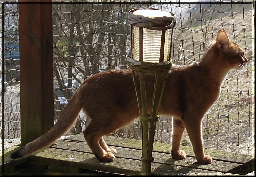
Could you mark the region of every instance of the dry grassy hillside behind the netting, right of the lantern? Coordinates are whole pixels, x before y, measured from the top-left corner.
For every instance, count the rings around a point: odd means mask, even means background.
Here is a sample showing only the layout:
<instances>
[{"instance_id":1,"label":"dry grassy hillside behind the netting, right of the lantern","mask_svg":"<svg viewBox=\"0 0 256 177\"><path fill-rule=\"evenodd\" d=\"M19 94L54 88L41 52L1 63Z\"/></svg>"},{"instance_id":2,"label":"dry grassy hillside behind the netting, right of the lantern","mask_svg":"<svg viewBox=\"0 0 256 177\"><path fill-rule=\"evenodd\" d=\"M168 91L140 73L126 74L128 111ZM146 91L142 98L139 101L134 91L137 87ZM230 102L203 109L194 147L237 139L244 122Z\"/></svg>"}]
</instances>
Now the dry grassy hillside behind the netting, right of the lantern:
<instances>
[{"instance_id":1,"label":"dry grassy hillside behind the netting, right of the lantern","mask_svg":"<svg viewBox=\"0 0 256 177\"><path fill-rule=\"evenodd\" d=\"M201 9L198 5L194 8L199 10L194 9L191 19L189 15L187 19L182 17L177 23L172 54L175 64L188 65L200 61L207 45L219 29L226 30L230 40L243 47L249 59L247 68L231 70L222 85L219 100L205 116L202 125L204 146L210 149L254 153L253 6L207 4L202 5ZM178 52L181 45L181 51ZM188 136L184 135L182 143L188 142Z\"/></svg>"}]
</instances>

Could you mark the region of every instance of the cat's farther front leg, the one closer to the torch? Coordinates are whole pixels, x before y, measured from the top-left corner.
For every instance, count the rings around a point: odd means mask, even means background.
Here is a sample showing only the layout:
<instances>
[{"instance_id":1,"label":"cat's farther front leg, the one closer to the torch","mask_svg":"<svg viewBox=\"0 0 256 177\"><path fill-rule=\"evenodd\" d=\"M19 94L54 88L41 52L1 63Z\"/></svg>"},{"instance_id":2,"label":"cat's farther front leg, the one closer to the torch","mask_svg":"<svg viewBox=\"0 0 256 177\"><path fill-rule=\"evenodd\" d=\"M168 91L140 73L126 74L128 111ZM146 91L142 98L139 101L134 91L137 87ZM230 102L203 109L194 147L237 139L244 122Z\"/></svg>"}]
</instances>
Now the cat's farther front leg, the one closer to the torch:
<instances>
[{"instance_id":1,"label":"cat's farther front leg, the one closer to the torch","mask_svg":"<svg viewBox=\"0 0 256 177\"><path fill-rule=\"evenodd\" d=\"M180 119L173 117L172 128L172 158L181 160L186 158L186 153L180 150L180 141L185 130L185 126Z\"/></svg>"}]
</instances>

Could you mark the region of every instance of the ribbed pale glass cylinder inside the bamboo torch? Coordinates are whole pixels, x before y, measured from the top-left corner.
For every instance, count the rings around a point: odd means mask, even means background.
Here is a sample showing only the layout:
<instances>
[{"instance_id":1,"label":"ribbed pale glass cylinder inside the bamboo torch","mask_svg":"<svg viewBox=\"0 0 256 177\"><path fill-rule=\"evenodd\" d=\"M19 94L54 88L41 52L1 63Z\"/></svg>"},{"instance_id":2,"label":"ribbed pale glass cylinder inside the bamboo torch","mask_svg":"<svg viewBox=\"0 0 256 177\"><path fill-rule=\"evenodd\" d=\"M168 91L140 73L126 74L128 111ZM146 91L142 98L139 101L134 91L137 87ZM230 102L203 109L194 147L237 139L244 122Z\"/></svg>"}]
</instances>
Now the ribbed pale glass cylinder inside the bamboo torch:
<instances>
[{"instance_id":1,"label":"ribbed pale glass cylinder inside the bamboo torch","mask_svg":"<svg viewBox=\"0 0 256 177\"><path fill-rule=\"evenodd\" d=\"M165 31L164 61L167 61L169 31ZM143 28L143 61L159 63L162 31ZM134 26L133 59L139 61L139 27Z\"/></svg>"}]
</instances>

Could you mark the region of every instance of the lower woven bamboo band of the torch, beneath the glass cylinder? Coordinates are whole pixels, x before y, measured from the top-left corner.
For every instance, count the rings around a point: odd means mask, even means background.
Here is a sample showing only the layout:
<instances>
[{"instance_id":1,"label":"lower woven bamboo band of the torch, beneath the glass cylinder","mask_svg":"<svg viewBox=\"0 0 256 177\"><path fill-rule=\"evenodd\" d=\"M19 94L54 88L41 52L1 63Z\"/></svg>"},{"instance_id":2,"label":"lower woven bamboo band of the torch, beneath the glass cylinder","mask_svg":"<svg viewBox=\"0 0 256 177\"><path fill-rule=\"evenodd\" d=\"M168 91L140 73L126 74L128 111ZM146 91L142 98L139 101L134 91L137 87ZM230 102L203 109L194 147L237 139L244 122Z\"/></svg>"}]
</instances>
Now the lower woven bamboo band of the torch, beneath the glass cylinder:
<instances>
[{"instance_id":1,"label":"lower woven bamboo band of the torch, beneath the glass cylinder","mask_svg":"<svg viewBox=\"0 0 256 177\"><path fill-rule=\"evenodd\" d=\"M150 63L144 61L136 61L132 58L127 58L127 63L132 71L144 73L166 73L171 69L172 60L160 63Z\"/></svg>"}]
</instances>

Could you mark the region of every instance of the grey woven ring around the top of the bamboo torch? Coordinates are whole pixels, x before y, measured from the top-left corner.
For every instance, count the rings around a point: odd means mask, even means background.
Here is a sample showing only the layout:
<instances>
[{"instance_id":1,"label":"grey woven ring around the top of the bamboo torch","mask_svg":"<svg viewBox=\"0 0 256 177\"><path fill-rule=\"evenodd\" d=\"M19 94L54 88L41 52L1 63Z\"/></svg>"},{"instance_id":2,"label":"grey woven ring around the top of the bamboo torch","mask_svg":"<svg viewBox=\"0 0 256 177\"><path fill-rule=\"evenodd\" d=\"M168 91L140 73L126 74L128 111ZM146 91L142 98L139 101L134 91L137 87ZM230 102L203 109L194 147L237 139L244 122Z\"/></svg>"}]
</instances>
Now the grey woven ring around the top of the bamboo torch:
<instances>
[{"instance_id":1,"label":"grey woven ring around the top of the bamboo torch","mask_svg":"<svg viewBox=\"0 0 256 177\"><path fill-rule=\"evenodd\" d=\"M153 9L153 8L149 8ZM134 15L133 12L141 9L132 9L128 12L129 23L137 27L145 27L151 30L167 30L175 27L176 15L172 12L171 17L145 17ZM153 9L159 10L159 9ZM161 11L161 10L159 10ZM165 11L166 12L166 11Z\"/></svg>"}]
</instances>

